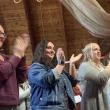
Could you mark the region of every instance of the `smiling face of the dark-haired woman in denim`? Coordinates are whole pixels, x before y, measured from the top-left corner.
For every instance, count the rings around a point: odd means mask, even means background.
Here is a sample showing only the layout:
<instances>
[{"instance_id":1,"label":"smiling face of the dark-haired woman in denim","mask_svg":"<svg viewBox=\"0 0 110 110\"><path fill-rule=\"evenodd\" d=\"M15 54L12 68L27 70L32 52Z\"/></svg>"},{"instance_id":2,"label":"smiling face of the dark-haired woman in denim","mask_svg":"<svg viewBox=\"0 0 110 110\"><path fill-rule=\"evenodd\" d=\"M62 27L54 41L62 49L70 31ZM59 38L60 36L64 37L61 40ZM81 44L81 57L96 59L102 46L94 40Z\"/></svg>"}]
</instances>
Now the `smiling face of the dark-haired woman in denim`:
<instances>
[{"instance_id":1,"label":"smiling face of the dark-haired woman in denim","mask_svg":"<svg viewBox=\"0 0 110 110\"><path fill-rule=\"evenodd\" d=\"M52 60L53 57L55 56L54 45L52 42L49 42L47 44L47 47L45 50L45 56L47 57L48 60Z\"/></svg>"}]
</instances>

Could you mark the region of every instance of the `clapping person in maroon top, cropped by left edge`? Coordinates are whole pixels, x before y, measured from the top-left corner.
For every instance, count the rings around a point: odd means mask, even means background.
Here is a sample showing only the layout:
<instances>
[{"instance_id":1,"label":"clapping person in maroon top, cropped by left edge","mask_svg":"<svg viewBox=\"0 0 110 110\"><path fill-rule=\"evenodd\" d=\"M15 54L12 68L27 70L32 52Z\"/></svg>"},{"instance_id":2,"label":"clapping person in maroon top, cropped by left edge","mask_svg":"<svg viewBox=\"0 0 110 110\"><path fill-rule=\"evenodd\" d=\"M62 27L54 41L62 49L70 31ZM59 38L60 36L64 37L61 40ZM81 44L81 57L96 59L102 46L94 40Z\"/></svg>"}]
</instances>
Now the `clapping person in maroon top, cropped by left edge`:
<instances>
[{"instance_id":1,"label":"clapping person in maroon top, cropped by left edge","mask_svg":"<svg viewBox=\"0 0 110 110\"><path fill-rule=\"evenodd\" d=\"M0 48L6 35L0 25ZM14 110L19 104L19 83L26 80L25 50L29 44L29 35L18 36L13 47L13 55L0 53L0 110Z\"/></svg>"}]
</instances>

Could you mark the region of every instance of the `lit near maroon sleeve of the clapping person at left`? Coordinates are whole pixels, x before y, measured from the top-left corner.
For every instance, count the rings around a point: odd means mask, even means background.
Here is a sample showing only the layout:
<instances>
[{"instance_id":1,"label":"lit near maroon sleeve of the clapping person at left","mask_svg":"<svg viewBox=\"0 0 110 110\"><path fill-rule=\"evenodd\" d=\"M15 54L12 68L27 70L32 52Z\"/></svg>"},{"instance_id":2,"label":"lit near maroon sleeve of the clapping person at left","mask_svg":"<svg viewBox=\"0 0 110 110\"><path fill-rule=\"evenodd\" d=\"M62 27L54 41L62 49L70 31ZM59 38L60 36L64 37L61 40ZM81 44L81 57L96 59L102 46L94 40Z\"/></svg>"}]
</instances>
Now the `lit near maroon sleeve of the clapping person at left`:
<instances>
[{"instance_id":1,"label":"lit near maroon sleeve of the clapping person at left","mask_svg":"<svg viewBox=\"0 0 110 110\"><path fill-rule=\"evenodd\" d=\"M10 75L15 73L20 58L11 56L9 59L0 62L0 81L7 80Z\"/></svg>"}]
</instances>

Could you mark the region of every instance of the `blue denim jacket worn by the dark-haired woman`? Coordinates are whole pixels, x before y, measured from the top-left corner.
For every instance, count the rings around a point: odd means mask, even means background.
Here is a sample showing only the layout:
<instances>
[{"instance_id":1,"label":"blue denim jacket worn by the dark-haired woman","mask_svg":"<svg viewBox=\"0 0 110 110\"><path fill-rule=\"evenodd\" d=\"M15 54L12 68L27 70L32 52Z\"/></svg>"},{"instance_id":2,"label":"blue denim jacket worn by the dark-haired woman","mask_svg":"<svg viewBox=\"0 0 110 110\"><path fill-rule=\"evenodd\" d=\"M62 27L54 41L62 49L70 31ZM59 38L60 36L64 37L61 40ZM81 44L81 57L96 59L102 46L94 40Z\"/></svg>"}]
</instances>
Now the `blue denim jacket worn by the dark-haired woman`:
<instances>
[{"instance_id":1,"label":"blue denim jacket worn by the dark-haired woman","mask_svg":"<svg viewBox=\"0 0 110 110\"><path fill-rule=\"evenodd\" d=\"M55 79L52 69L33 63L29 69L32 110L68 110L68 100L75 107L74 93L68 77Z\"/></svg>"}]
</instances>

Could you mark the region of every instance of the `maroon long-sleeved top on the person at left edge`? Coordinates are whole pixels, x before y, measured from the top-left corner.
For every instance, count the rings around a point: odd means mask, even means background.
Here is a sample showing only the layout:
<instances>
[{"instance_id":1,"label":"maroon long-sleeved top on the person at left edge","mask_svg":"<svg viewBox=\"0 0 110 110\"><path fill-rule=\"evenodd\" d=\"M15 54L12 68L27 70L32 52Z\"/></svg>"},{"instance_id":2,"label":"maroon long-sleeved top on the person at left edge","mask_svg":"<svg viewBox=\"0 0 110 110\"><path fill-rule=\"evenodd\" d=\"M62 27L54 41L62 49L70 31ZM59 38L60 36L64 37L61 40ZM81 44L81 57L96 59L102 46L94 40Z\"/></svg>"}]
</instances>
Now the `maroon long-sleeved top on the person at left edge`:
<instances>
[{"instance_id":1,"label":"maroon long-sleeved top on the person at left edge","mask_svg":"<svg viewBox=\"0 0 110 110\"><path fill-rule=\"evenodd\" d=\"M18 105L18 84L26 79L25 59L2 55L0 61L0 105Z\"/></svg>"}]
</instances>

